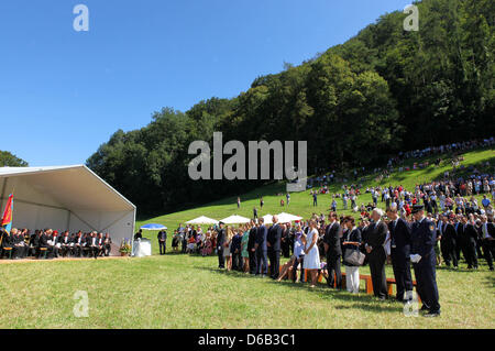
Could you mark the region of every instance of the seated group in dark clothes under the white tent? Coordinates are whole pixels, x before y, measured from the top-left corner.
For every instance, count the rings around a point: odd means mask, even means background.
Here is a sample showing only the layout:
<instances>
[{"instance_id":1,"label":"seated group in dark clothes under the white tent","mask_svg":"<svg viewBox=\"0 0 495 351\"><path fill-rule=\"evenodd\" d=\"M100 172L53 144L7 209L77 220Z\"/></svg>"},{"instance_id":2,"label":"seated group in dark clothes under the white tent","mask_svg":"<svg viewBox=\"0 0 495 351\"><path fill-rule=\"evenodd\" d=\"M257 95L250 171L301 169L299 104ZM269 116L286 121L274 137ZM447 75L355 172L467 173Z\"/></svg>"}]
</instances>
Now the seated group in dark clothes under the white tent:
<instances>
[{"instance_id":1,"label":"seated group in dark clothes under the white tent","mask_svg":"<svg viewBox=\"0 0 495 351\"><path fill-rule=\"evenodd\" d=\"M29 229L12 228L10 232L0 229L2 259L20 260L26 257L95 257L110 255L112 240L109 233L97 231L69 233L44 229L32 233Z\"/></svg>"}]
</instances>

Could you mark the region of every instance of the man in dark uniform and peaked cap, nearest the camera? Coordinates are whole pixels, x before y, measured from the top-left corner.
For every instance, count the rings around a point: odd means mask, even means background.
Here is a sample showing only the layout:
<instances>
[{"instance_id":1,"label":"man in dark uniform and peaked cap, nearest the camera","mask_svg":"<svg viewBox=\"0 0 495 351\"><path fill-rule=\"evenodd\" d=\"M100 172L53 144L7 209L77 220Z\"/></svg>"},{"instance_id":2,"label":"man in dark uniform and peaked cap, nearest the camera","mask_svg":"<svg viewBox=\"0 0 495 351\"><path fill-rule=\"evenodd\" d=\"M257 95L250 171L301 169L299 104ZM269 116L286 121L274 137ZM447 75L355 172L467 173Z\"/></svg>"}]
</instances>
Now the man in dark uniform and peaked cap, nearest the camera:
<instances>
[{"instance_id":1,"label":"man in dark uniform and peaked cap, nearest the camera","mask_svg":"<svg viewBox=\"0 0 495 351\"><path fill-rule=\"evenodd\" d=\"M428 311L426 317L440 316L440 304L437 287L435 245L437 229L435 223L425 217L421 205L413 207L415 222L411 231L410 261L415 270L417 292L421 298L421 311Z\"/></svg>"}]
</instances>

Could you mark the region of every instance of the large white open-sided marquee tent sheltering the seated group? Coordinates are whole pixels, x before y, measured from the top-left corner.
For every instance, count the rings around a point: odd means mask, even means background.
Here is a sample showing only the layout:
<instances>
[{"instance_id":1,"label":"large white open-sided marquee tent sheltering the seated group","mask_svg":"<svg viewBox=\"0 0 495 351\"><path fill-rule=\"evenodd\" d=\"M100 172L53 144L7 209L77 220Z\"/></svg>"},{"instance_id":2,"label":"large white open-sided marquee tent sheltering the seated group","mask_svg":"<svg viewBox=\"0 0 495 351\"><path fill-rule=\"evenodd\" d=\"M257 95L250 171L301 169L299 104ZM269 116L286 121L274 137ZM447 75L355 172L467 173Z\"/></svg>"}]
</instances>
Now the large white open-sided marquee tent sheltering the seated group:
<instances>
[{"instance_id":1,"label":"large white open-sided marquee tent sheltering the seated group","mask_svg":"<svg viewBox=\"0 0 495 351\"><path fill-rule=\"evenodd\" d=\"M0 191L1 211L14 193L13 227L109 232L111 254L133 238L135 206L85 165L0 167Z\"/></svg>"}]
</instances>

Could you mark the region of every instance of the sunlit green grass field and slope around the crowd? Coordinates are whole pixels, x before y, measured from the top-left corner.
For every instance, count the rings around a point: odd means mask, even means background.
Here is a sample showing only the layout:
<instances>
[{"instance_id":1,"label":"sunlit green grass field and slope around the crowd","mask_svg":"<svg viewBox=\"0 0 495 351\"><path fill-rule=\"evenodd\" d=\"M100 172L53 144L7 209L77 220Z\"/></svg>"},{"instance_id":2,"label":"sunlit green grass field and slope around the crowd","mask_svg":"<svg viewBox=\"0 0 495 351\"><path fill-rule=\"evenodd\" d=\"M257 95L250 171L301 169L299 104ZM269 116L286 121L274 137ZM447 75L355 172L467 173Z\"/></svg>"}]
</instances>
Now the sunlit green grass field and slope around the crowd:
<instances>
[{"instance_id":1,"label":"sunlit green grass field and slope around the crowd","mask_svg":"<svg viewBox=\"0 0 495 351\"><path fill-rule=\"evenodd\" d=\"M490 161L494 150L464 155L464 165ZM383 184L400 183L406 187L443 174L449 165L407 174L393 174ZM366 180L369 184L373 179ZM366 187L366 183L364 187ZM331 187L338 190L341 185ZM177 228L205 215L221 219L232 213L252 216L263 195L261 216L286 211L304 217L323 212L331 197L320 195L319 206L311 207L309 191L293 194L289 207L279 206L277 193L284 185L271 185L207 206L142 219ZM362 196L358 204L371 201ZM380 204L380 202L378 202ZM341 206L341 201L339 201ZM169 231L170 232L170 231ZM156 232L146 232L156 254ZM172 235L168 235L168 250ZM166 254L143 259L12 262L0 264L0 328L494 328L495 276L481 260L476 272L440 267L437 271L442 315L440 318L406 317L403 305L380 301L362 292L359 296L334 292L320 285L275 283L237 272L216 270L215 256ZM386 267L387 276L393 276ZM362 267L362 274L369 268ZM364 288L362 282L361 288ZM75 317L73 299L77 290L89 297L89 317Z\"/></svg>"}]
</instances>

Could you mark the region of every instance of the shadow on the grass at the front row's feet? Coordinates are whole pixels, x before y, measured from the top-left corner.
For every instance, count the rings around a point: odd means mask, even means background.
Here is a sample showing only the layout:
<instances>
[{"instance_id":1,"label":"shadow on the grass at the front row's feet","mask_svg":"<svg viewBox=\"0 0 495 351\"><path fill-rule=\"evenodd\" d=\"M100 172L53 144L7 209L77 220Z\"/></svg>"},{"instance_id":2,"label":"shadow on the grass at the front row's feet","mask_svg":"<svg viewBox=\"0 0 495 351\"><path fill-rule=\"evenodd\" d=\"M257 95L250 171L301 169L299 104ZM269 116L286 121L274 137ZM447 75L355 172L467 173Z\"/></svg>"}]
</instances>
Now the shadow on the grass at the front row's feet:
<instances>
[{"instance_id":1,"label":"shadow on the grass at the front row's feet","mask_svg":"<svg viewBox=\"0 0 495 351\"><path fill-rule=\"evenodd\" d=\"M333 308L337 309L356 308L367 311L381 311L381 312L386 311L394 314L403 310L403 305L399 303L395 303L393 297L389 297L387 301L381 301L373 295L367 295L366 293L364 293L364 290L360 290L359 295L354 295L348 293L344 289L339 290L329 288L326 283L318 283L317 287L310 288L309 283L293 283L292 281L276 282L270 277L260 278L258 276L254 276L243 272L226 271L215 267L196 266L195 268L212 272L216 274L228 275L235 278L261 279L270 285L289 286L290 288L314 293L318 295L319 298L332 303L336 303L337 300L341 300L342 303L351 303L351 305L332 306Z\"/></svg>"}]
</instances>

